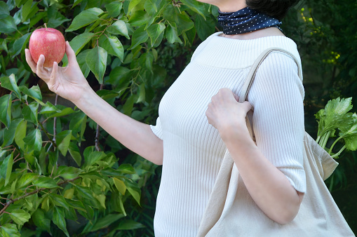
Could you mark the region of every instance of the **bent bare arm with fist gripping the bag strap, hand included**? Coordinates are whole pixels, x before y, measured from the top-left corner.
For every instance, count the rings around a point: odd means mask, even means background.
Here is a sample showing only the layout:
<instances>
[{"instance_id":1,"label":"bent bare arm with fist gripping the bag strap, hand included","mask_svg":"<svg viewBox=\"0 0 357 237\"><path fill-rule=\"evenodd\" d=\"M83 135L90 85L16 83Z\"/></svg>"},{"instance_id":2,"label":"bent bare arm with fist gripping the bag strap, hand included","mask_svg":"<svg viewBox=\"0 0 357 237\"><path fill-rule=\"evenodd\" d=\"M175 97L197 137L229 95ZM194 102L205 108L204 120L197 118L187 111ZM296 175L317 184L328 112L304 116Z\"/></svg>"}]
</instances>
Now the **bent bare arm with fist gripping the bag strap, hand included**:
<instances>
[{"instance_id":1,"label":"bent bare arm with fist gripping the bag strap, hand included","mask_svg":"<svg viewBox=\"0 0 357 237\"><path fill-rule=\"evenodd\" d=\"M286 224L297 215L304 194L271 164L250 138L245 116L249 102L239 104L231 90L221 89L206 112L208 122L220 132L250 196L275 222Z\"/></svg>"}]
</instances>

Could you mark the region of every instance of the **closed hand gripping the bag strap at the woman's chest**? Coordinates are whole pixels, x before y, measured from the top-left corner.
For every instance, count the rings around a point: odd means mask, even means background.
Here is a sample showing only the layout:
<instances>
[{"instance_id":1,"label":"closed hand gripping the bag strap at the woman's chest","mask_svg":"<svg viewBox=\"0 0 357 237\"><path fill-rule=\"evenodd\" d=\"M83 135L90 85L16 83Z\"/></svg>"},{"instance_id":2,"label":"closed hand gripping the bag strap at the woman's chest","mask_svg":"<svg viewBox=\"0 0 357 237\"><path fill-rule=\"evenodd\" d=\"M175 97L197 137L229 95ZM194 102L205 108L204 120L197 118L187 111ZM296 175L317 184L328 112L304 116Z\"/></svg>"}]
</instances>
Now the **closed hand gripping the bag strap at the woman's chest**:
<instances>
[{"instance_id":1,"label":"closed hand gripping the bag strap at the woman's chest","mask_svg":"<svg viewBox=\"0 0 357 237\"><path fill-rule=\"evenodd\" d=\"M252 109L252 105L248 101L238 103L238 100L238 95L229 88L222 88L208 104L208 123L217 128L223 140L231 135L249 136L245 116Z\"/></svg>"}]
</instances>

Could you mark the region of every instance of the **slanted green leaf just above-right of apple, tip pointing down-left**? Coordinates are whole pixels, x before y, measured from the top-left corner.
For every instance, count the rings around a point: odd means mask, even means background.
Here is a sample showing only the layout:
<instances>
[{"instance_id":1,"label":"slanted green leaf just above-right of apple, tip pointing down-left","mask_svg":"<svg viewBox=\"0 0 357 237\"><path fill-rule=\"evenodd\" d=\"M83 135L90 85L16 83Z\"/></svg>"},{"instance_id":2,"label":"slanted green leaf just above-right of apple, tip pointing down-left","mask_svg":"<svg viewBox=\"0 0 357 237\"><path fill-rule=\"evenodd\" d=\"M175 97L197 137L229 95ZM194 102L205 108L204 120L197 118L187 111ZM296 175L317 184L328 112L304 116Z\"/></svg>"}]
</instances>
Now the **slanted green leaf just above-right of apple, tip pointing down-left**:
<instances>
[{"instance_id":1,"label":"slanted green leaf just above-right of apple, tip pointing down-left","mask_svg":"<svg viewBox=\"0 0 357 237\"><path fill-rule=\"evenodd\" d=\"M95 22L95 20L99 19L98 15L102 13L103 11L100 8L89 8L85 11L82 11L76 15L72 21L72 24L69 25L68 29L66 29L66 32L73 32L76 29L85 27L86 25Z\"/></svg>"}]
</instances>

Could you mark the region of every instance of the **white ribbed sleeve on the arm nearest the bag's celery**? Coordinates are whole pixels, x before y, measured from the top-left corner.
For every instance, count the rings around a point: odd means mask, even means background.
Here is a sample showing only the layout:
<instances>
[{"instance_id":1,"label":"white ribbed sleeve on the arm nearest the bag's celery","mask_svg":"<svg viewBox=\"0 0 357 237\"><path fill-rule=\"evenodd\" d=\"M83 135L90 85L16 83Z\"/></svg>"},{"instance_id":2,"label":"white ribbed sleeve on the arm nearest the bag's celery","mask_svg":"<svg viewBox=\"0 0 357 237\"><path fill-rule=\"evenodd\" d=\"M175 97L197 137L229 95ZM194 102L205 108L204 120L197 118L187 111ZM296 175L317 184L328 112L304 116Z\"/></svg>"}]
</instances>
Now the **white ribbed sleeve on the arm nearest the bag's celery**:
<instances>
[{"instance_id":1,"label":"white ribbed sleeve on the arm nearest the bag's celery","mask_svg":"<svg viewBox=\"0 0 357 237\"><path fill-rule=\"evenodd\" d=\"M254 107L257 147L304 193L304 87L297 70L290 56L270 53L257 70L248 100Z\"/></svg>"}]
</instances>

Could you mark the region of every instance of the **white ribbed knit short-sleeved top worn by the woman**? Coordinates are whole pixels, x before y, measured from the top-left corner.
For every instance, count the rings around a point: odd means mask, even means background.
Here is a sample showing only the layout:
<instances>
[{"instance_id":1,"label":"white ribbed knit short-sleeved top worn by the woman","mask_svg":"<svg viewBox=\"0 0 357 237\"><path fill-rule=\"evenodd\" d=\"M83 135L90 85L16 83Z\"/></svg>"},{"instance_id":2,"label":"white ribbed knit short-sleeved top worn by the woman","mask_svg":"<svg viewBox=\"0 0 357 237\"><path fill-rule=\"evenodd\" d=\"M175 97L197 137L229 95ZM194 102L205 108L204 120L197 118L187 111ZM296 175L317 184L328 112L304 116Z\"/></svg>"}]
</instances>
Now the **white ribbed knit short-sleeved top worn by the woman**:
<instances>
[{"instance_id":1,"label":"white ribbed knit short-sleeved top worn by the woman","mask_svg":"<svg viewBox=\"0 0 357 237\"><path fill-rule=\"evenodd\" d=\"M163 170L154 218L155 236L196 236L226 147L208 124L206 109L220 88L239 95L263 50L278 46L299 59L285 36L238 40L217 32L201 43L163 96L151 130L163 140ZM257 147L298 191L306 191L302 165L304 88L297 65L271 53L260 65L248 100L254 107ZM239 144L237 144L239 146Z\"/></svg>"}]
</instances>

